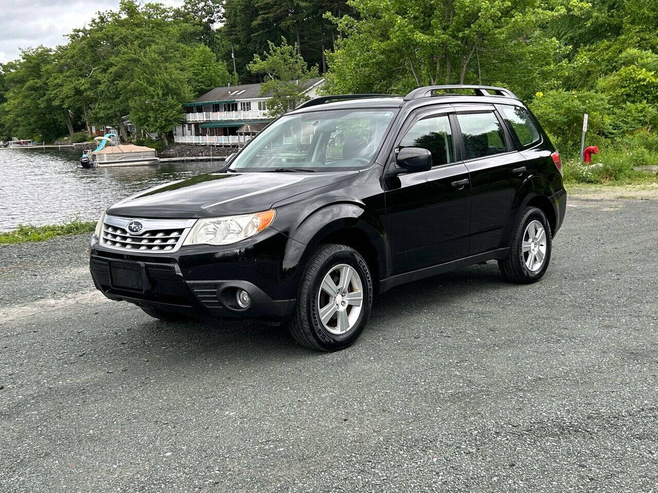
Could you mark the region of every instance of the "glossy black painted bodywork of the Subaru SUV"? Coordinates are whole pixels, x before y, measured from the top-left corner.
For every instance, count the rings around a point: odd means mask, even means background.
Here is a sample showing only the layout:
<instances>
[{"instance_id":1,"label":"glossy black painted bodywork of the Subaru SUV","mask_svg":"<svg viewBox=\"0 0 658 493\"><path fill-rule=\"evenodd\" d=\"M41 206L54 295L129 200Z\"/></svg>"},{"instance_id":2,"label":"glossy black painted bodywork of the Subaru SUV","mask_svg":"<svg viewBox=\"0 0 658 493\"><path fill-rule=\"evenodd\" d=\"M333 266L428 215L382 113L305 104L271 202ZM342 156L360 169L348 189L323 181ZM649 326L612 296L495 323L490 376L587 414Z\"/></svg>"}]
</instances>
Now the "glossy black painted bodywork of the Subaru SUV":
<instances>
[{"instance_id":1,"label":"glossy black painted bodywork of the Subaru SUV","mask_svg":"<svg viewBox=\"0 0 658 493\"><path fill-rule=\"evenodd\" d=\"M457 162L426 172L396 169L395 141L417 112L437 108L454 112L465 110L469 104L473 108L493 108L500 104L500 98L477 97L474 102L446 96L407 103L391 98L328 103L328 108L349 105L395 111L373 164L365 170L207 174L122 200L107 214L203 218L274 208L276 218L270 227L240 243L226 247L194 245L168 254L128 254L103 247L92 236L95 284L109 298L147 308L202 317L281 319L293 309L299 279L311 252L324 239L340 232L369 243L380 291L451 268L504 258L509 251L511 226L522 207L532 200L550 208L554 235L564 216L566 194L551 158L555 149L540 126L542 141L531 149L513 150L509 130L503 126L509 153L465 161L461 137L455 134ZM505 100L505 104L521 103ZM519 161L526 170L513 173ZM469 181L463 186L453 185L465 179ZM153 270L155 278L166 270L166 279L155 282L155 287L175 295L168 298L157 293L111 289L104 270L116 259L145 262L147 272ZM240 283L256 293L255 303L247 310L236 310L222 298L222 287ZM216 300L210 303L199 297L195 291L199 285L218 289Z\"/></svg>"}]
</instances>

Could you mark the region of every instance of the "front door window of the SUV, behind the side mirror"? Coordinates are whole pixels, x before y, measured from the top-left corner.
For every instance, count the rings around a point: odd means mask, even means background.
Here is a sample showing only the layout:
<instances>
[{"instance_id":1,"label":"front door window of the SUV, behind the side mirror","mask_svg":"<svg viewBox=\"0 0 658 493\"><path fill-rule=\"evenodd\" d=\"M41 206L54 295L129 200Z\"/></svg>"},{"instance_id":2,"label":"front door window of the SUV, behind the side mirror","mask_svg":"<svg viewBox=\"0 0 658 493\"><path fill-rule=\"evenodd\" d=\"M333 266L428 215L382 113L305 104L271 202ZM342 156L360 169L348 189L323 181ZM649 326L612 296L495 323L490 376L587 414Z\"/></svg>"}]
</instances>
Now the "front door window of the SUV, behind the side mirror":
<instances>
[{"instance_id":1,"label":"front door window of the SUV, behind the side mirror","mask_svg":"<svg viewBox=\"0 0 658 493\"><path fill-rule=\"evenodd\" d=\"M403 147L422 147L432 153L434 166L455 161L453 137L447 115L430 116L418 120L411 126L398 145Z\"/></svg>"}]
</instances>

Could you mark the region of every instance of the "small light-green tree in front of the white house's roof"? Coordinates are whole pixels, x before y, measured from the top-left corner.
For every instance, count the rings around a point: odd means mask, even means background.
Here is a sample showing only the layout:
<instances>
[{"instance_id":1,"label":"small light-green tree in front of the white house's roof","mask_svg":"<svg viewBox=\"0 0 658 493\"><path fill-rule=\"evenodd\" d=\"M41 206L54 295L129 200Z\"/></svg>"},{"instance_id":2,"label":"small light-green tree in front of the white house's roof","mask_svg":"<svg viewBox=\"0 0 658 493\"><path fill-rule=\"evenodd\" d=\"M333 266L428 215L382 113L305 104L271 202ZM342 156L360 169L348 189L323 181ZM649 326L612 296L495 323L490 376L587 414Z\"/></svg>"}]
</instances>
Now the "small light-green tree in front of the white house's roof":
<instances>
[{"instance_id":1,"label":"small light-green tree in front of the white house's roof","mask_svg":"<svg viewBox=\"0 0 658 493\"><path fill-rule=\"evenodd\" d=\"M272 95L268 112L270 116L279 116L309 99L303 94L303 87L310 79L318 77L318 68L309 69L297 47L286 43L285 38L281 39L280 46L272 41L268 45L263 58L254 55L247 68L255 74L265 74L261 95Z\"/></svg>"}]
</instances>

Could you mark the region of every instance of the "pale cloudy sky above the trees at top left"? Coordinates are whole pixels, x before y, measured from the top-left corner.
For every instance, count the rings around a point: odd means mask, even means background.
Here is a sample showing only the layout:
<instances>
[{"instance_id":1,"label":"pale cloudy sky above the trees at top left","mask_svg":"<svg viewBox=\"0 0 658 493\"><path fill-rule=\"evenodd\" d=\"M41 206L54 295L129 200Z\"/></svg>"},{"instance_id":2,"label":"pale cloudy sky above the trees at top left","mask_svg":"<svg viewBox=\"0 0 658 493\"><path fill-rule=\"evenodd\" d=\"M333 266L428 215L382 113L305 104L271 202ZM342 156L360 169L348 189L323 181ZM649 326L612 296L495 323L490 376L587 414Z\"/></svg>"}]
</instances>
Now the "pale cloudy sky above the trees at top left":
<instances>
[{"instance_id":1,"label":"pale cloudy sky above the trees at top left","mask_svg":"<svg viewBox=\"0 0 658 493\"><path fill-rule=\"evenodd\" d=\"M183 0L159 0L180 7ZM0 63L20 56L20 48L66 43L64 34L82 28L98 11L118 0L0 0Z\"/></svg>"}]
</instances>

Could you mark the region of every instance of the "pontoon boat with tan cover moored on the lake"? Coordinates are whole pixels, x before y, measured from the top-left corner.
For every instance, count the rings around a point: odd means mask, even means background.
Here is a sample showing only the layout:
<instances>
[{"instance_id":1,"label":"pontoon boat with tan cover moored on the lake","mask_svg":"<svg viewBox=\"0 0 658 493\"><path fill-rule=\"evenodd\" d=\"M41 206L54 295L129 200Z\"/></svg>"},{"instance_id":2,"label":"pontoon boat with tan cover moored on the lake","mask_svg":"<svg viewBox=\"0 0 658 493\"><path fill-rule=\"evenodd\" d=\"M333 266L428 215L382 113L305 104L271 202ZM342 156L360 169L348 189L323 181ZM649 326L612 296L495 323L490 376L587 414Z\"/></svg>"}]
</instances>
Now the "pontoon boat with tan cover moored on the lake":
<instances>
[{"instance_id":1,"label":"pontoon boat with tan cover moored on the lake","mask_svg":"<svg viewBox=\"0 0 658 493\"><path fill-rule=\"evenodd\" d=\"M93 151L84 151L80 158L83 168L104 168L106 166L149 166L158 164L155 149L134 144L120 144L116 133L107 133L105 137L94 139L98 147Z\"/></svg>"}]
</instances>

